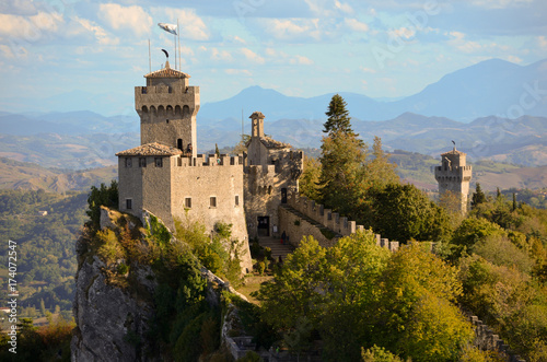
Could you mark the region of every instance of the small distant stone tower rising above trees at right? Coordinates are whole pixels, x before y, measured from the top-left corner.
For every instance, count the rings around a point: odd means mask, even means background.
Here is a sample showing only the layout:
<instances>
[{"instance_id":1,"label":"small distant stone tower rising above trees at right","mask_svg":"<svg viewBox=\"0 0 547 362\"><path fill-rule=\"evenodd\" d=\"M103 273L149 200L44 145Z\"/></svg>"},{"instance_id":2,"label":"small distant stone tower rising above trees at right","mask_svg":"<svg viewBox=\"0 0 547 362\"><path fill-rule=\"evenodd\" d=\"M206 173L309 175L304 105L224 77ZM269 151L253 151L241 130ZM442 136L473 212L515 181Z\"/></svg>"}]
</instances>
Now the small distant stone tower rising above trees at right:
<instances>
[{"instance_id":1,"label":"small distant stone tower rising above trees at right","mask_svg":"<svg viewBox=\"0 0 547 362\"><path fill-rule=\"evenodd\" d=\"M435 179L439 183L439 194L454 192L461 197L461 210L467 212L472 166L466 165L466 154L454 149L441 154L442 165L435 167Z\"/></svg>"}]
</instances>

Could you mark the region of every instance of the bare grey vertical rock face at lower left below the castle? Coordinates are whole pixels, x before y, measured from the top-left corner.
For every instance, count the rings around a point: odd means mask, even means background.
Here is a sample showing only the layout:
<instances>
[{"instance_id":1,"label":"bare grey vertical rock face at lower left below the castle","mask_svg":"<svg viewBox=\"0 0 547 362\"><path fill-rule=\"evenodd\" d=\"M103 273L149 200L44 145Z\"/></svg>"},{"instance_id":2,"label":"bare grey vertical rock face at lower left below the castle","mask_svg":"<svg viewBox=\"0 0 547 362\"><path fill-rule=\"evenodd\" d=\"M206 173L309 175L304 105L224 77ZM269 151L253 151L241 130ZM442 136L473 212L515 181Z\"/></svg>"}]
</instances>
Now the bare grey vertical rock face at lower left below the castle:
<instances>
[{"instance_id":1,"label":"bare grey vertical rock face at lower left below the castle","mask_svg":"<svg viewBox=\"0 0 547 362\"><path fill-rule=\"evenodd\" d=\"M77 273L72 361L154 361L147 346L152 305L106 283L96 256ZM141 272L144 275L146 272ZM158 359L160 360L160 359Z\"/></svg>"}]
</instances>

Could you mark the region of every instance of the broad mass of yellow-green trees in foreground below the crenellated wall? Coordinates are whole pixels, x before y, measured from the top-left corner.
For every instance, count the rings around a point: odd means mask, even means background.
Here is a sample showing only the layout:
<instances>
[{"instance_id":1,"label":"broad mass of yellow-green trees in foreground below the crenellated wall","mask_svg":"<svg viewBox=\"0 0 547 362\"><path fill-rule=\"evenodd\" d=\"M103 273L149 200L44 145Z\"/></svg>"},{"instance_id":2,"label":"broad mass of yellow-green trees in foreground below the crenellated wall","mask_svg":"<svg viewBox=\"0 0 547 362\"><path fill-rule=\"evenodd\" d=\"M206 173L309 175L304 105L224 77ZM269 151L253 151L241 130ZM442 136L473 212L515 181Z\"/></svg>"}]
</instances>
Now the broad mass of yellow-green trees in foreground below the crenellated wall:
<instances>
[{"instance_id":1,"label":"broad mass of yellow-green trees in foreground below the crenellated wall","mask_svg":"<svg viewBox=\"0 0 547 362\"><path fill-rule=\"evenodd\" d=\"M456 268L417 244L392 254L364 232L329 248L305 237L257 297L295 352L317 330L328 361L358 360L374 343L416 361L451 361L473 339L454 304L461 293Z\"/></svg>"}]
</instances>

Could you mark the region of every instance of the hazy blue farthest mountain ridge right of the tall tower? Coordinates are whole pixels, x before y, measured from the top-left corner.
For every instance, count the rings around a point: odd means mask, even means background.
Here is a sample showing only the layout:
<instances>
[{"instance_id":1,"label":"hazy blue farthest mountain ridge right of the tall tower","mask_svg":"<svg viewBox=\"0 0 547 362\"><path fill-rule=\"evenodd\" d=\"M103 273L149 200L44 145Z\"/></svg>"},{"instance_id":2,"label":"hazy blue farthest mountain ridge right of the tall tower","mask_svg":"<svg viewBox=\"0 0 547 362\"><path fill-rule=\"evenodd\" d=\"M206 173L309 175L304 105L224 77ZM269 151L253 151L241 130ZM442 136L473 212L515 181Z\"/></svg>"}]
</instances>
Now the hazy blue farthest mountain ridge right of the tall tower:
<instances>
[{"instance_id":1,"label":"hazy blue farthest mountain ridge right of the tall tower","mask_svg":"<svg viewBox=\"0 0 547 362\"><path fill-rule=\"evenodd\" d=\"M229 100L203 104L198 117L205 125L211 125L223 119L240 119L243 109L244 118L260 110L267 120L325 119L333 94L291 97L275 90L251 86ZM526 67L500 59L486 60L393 102L356 93L339 94L348 103L350 115L360 120L392 119L407 112L466 122L492 115L547 117L547 59Z\"/></svg>"}]
</instances>

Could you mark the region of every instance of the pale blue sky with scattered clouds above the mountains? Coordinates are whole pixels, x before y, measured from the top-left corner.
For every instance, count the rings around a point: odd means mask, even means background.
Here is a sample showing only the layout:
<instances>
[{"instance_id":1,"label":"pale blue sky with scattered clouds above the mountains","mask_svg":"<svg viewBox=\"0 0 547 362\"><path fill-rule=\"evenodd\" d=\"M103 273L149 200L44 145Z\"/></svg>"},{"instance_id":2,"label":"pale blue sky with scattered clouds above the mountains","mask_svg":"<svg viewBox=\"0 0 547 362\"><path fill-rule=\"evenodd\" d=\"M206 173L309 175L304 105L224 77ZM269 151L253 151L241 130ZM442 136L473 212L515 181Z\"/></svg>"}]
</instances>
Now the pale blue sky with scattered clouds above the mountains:
<instances>
[{"instance_id":1,"label":"pale blue sky with scattered clouds above the mountains","mask_svg":"<svg viewBox=\"0 0 547 362\"><path fill-rule=\"evenodd\" d=\"M182 70L202 104L249 85L399 97L481 60L547 58L545 0L9 0L0 3L0 96L26 98L33 110L67 92L109 93L130 109L149 39L152 70L165 61L161 48L173 66L173 36L156 24L177 19Z\"/></svg>"}]
</instances>

